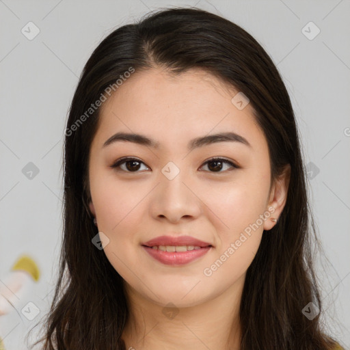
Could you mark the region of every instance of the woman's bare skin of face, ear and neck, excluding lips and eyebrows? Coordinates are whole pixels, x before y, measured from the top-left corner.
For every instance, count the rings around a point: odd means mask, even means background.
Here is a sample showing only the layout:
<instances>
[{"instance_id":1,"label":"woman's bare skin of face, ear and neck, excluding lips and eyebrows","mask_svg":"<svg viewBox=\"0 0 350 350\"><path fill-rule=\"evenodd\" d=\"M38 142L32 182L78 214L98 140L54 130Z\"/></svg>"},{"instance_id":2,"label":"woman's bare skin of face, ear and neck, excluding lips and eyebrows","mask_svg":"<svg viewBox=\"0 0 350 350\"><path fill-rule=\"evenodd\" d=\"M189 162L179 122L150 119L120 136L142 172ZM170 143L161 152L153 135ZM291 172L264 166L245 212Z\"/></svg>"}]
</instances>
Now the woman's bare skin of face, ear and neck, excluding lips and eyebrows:
<instances>
[{"instance_id":1,"label":"woman's bare skin of face, ear and neck, excluding lips and eyebrows","mask_svg":"<svg viewBox=\"0 0 350 350\"><path fill-rule=\"evenodd\" d=\"M251 105L239 110L231 103L237 92L203 70L173 77L157 68L135 72L102 106L90 148L90 210L109 239L105 254L124 278L131 310L122 336L126 349L239 349L245 273L263 230L275 225L271 217L284 208L290 167L270 183L267 140ZM116 142L103 148L120 131L146 135L161 146ZM219 142L187 150L195 137L227 131L252 147ZM121 157L142 163L112 168ZM205 163L211 157L240 168L223 163L215 171L215 164ZM172 180L161 172L169 161L180 170ZM269 207L274 213L216 271L204 275ZM189 235L213 248L187 265L163 265L142 247L163 234ZM169 303L174 317L164 312Z\"/></svg>"}]
</instances>

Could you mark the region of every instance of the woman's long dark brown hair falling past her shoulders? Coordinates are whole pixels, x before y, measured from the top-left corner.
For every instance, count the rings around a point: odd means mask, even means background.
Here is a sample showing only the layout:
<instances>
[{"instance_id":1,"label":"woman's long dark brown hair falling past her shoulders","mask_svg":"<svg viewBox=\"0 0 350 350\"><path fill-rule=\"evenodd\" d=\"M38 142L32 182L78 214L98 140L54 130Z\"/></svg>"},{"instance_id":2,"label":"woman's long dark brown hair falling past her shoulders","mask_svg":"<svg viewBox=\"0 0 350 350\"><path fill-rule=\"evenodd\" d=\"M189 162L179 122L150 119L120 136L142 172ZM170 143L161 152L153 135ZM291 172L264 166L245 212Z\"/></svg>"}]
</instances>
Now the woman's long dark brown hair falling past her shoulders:
<instances>
[{"instance_id":1,"label":"woman's long dark brown hair falling past her shoulders","mask_svg":"<svg viewBox=\"0 0 350 350\"><path fill-rule=\"evenodd\" d=\"M262 46L238 25L197 8L166 8L110 33L79 79L66 129L64 239L45 334L38 340L44 341L43 349L125 347L121 335L129 309L122 278L92 244L96 226L87 206L88 157L100 108L89 116L86 111L131 67L133 74L161 67L174 75L202 68L250 99L269 145L271 180L287 164L291 178L280 219L262 235L247 269L241 349L334 348L334 340L321 329L320 314L309 319L302 312L310 302L322 312L310 249L315 229L295 116L280 74Z\"/></svg>"}]
</instances>

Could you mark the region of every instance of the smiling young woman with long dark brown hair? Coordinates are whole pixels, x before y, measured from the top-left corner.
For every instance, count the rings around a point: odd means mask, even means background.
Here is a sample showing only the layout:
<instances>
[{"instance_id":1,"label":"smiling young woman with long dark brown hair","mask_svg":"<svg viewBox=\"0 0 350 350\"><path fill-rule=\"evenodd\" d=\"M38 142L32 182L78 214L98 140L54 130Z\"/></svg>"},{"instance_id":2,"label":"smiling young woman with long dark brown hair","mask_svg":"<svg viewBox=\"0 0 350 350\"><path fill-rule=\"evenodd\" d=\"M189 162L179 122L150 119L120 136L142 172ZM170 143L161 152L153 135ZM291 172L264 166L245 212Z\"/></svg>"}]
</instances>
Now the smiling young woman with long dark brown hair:
<instances>
[{"instance_id":1,"label":"smiling young woman with long dark brown hair","mask_svg":"<svg viewBox=\"0 0 350 350\"><path fill-rule=\"evenodd\" d=\"M64 157L44 349L336 349L291 101L241 27L177 8L113 31Z\"/></svg>"}]
</instances>

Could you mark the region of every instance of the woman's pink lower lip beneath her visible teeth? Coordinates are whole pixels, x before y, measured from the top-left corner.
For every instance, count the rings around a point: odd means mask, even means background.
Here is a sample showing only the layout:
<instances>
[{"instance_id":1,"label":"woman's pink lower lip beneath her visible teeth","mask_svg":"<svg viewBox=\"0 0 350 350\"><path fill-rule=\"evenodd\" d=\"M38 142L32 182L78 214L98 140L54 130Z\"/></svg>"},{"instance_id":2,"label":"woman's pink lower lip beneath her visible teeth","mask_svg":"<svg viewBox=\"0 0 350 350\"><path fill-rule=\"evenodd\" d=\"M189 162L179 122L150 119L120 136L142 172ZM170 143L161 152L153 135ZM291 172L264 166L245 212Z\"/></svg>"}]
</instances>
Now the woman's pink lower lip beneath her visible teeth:
<instances>
[{"instance_id":1,"label":"woman's pink lower lip beneath her visible teeth","mask_svg":"<svg viewBox=\"0 0 350 350\"><path fill-rule=\"evenodd\" d=\"M142 247L144 247L144 250L146 250L152 258L165 265L185 265L200 258L211 249L211 247L202 247L197 250L187 250L187 252L163 252L162 250L155 250L145 245Z\"/></svg>"}]
</instances>

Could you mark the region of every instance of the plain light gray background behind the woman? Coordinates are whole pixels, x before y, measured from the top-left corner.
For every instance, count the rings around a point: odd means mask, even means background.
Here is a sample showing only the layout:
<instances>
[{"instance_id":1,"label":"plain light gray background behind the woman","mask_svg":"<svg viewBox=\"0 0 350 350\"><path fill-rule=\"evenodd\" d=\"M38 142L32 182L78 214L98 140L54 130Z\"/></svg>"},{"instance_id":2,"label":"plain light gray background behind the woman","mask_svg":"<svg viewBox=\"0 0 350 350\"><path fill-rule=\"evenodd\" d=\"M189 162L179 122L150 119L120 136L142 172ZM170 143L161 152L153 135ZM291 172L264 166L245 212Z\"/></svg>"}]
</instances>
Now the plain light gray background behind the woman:
<instances>
[{"instance_id":1,"label":"plain light gray background behind the woman","mask_svg":"<svg viewBox=\"0 0 350 350\"><path fill-rule=\"evenodd\" d=\"M33 256L42 273L16 310L0 317L7 350L27 349L23 338L53 297L64 129L83 65L113 29L168 6L225 16L251 33L278 66L310 169L310 200L325 253L317 260L323 317L329 334L350 349L349 0L0 0L0 280L20 254ZM33 40L21 32L29 21L40 29ZM310 21L320 29L314 38L317 27ZM29 162L39 170L32 178L23 174ZM21 313L29 301L40 309L33 321Z\"/></svg>"}]
</instances>

